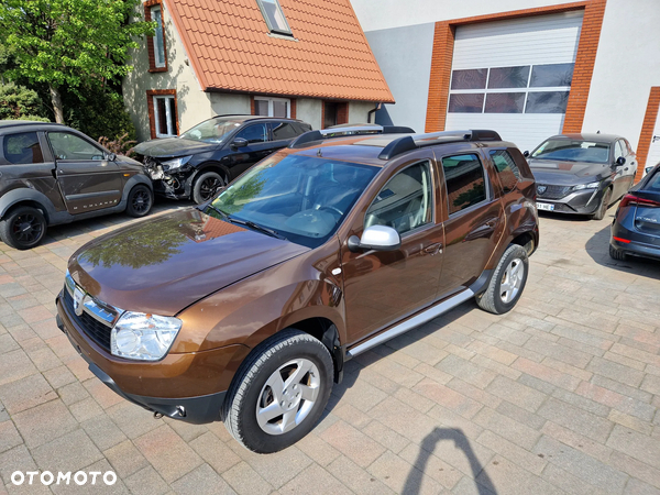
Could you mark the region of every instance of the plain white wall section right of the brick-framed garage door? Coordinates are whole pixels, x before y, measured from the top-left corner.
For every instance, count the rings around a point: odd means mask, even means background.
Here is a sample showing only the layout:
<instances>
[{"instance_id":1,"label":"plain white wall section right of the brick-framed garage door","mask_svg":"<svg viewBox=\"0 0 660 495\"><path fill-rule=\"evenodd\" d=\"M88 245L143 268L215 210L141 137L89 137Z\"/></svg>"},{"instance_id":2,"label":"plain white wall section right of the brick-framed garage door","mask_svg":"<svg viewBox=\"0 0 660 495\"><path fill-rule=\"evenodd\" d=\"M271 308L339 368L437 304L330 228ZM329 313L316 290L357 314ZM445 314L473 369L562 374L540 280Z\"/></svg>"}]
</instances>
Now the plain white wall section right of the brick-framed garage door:
<instances>
[{"instance_id":1,"label":"plain white wall section right of the brick-framed garage door","mask_svg":"<svg viewBox=\"0 0 660 495\"><path fill-rule=\"evenodd\" d=\"M607 0L582 130L620 134L637 150L651 86L660 86L660 1Z\"/></svg>"}]
</instances>

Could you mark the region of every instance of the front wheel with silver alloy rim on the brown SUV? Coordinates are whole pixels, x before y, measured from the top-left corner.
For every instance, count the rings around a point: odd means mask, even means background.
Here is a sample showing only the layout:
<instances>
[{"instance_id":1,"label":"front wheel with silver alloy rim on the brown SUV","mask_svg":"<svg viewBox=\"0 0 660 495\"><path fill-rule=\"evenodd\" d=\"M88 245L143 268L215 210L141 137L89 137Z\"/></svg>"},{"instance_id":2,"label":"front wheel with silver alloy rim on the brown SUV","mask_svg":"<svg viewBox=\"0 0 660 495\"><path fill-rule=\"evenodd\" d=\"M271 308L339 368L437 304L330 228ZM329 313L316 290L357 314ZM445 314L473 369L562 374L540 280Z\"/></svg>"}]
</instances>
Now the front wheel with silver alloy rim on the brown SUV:
<instances>
[{"instance_id":1,"label":"front wheel with silver alloy rim on the brown SUV","mask_svg":"<svg viewBox=\"0 0 660 495\"><path fill-rule=\"evenodd\" d=\"M260 344L228 392L224 426L257 453L286 449L317 424L332 388L332 358L318 339L287 329Z\"/></svg>"}]
</instances>

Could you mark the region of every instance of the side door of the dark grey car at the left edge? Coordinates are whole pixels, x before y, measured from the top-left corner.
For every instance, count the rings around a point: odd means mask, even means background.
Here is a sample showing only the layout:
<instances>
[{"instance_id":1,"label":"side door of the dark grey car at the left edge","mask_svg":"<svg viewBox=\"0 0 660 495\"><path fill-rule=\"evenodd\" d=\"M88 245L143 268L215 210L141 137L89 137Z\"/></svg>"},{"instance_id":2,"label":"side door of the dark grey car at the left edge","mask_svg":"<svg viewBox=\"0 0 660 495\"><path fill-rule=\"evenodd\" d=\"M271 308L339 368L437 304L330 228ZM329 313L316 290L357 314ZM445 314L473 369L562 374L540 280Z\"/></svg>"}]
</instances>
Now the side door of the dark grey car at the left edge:
<instances>
[{"instance_id":1,"label":"side door of the dark grey car at the left edge","mask_svg":"<svg viewBox=\"0 0 660 495\"><path fill-rule=\"evenodd\" d=\"M57 182L69 213L78 215L117 206L121 200L122 175L106 152L78 134L50 131Z\"/></svg>"}]
</instances>

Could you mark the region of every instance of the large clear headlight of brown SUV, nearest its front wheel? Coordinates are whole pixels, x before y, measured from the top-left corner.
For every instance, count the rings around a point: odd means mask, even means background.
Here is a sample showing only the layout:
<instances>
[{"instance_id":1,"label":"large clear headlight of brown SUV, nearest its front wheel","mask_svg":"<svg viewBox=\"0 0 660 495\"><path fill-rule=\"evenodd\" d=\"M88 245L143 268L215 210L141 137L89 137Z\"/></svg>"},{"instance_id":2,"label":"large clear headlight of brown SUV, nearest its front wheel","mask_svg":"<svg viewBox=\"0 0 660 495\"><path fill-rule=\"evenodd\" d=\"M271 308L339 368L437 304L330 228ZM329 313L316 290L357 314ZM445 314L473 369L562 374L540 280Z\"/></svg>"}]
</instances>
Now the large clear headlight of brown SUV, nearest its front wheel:
<instances>
[{"instance_id":1,"label":"large clear headlight of brown SUV, nearest its front wheel","mask_svg":"<svg viewBox=\"0 0 660 495\"><path fill-rule=\"evenodd\" d=\"M127 311L110 333L110 348L120 358L158 361L167 354L180 328L178 318Z\"/></svg>"}]
</instances>

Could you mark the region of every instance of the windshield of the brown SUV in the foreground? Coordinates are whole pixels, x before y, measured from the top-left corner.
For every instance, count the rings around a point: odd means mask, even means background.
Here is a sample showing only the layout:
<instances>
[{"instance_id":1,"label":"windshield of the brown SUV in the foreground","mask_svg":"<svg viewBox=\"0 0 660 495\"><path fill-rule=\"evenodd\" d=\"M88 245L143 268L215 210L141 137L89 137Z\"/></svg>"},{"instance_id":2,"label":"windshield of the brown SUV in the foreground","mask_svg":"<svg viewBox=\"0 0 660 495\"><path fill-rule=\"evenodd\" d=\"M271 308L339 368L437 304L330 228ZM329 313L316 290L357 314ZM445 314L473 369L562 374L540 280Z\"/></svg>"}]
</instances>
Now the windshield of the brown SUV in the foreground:
<instances>
[{"instance_id":1,"label":"windshield of the brown SUV in the foreground","mask_svg":"<svg viewBox=\"0 0 660 495\"><path fill-rule=\"evenodd\" d=\"M275 155L232 183L206 212L237 223L253 222L297 244L317 248L334 233L378 170L349 162Z\"/></svg>"}]
</instances>

